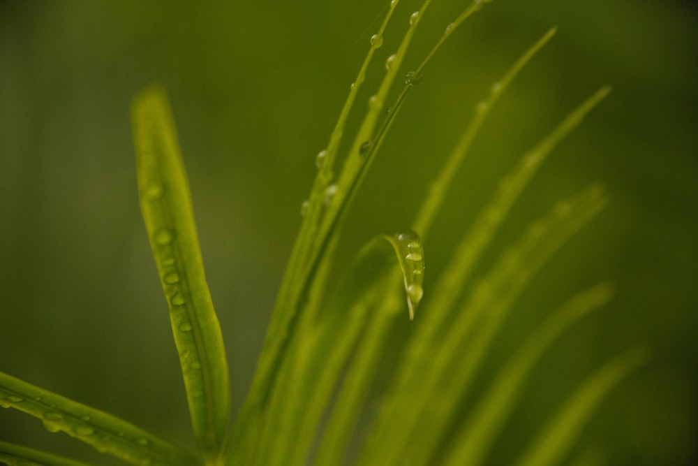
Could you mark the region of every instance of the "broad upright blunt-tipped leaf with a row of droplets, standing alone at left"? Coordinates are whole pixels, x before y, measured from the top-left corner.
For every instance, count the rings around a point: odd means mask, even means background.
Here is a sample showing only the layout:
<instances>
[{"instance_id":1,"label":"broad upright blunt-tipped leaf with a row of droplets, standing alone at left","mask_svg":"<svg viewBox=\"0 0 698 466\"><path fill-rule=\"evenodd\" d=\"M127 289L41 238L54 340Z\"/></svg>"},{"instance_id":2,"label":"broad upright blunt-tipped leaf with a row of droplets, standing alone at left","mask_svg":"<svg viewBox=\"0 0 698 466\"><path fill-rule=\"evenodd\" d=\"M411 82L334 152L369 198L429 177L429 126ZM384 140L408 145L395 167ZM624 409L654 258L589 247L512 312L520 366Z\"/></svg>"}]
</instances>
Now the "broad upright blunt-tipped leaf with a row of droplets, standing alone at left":
<instances>
[{"instance_id":1,"label":"broad upright blunt-tipped leaf with a row of droplets, standing alone at left","mask_svg":"<svg viewBox=\"0 0 698 466\"><path fill-rule=\"evenodd\" d=\"M221 448L228 424L228 364L164 90L145 89L132 117L140 206L170 308L191 423L210 456Z\"/></svg>"}]
</instances>

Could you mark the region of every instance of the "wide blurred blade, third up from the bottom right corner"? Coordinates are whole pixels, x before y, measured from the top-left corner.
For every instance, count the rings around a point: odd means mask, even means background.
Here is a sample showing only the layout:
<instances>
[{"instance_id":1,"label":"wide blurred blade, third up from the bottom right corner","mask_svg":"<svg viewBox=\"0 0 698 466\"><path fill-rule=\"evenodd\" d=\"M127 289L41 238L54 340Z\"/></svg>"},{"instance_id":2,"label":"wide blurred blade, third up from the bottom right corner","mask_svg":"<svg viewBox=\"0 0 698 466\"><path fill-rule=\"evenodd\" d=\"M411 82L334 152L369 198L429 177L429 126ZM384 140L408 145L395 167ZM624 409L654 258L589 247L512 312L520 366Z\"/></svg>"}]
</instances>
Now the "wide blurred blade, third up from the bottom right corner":
<instances>
[{"instance_id":1,"label":"wide blurred blade, third up from the bottom right corner","mask_svg":"<svg viewBox=\"0 0 698 466\"><path fill-rule=\"evenodd\" d=\"M394 396L380 410L361 464L428 464L443 433L452 429L454 407L521 289L603 205L597 186L558 203L503 254L461 310L450 313L443 335L436 340L413 340L406 349L410 365L397 374ZM436 318L429 309L425 314Z\"/></svg>"}]
</instances>

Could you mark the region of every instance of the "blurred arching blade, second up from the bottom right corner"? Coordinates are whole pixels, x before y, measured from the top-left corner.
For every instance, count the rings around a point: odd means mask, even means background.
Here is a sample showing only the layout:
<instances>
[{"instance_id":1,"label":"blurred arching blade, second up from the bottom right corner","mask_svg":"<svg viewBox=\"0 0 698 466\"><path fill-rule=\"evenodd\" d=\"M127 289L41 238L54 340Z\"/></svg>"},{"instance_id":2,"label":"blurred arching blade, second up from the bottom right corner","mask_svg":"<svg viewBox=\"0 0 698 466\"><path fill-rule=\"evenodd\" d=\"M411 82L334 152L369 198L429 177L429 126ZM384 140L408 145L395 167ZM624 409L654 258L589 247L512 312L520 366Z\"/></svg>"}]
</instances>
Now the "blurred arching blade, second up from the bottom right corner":
<instances>
[{"instance_id":1,"label":"blurred arching blade, second up from the bottom right corner","mask_svg":"<svg viewBox=\"0 0 698 466\"><path fill-rule=\"evenodd\" d=\"M470 420L454 435L452 451L439 464L472 466L484 464L500 428L521 395L523 383L540 356L574 321L604 305L611 287L600 284L566 303L542 323L500 370L483 400L477 402Z\"/></svg>"}]
</instances>

